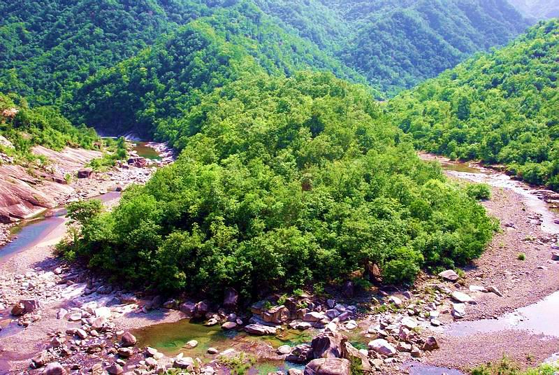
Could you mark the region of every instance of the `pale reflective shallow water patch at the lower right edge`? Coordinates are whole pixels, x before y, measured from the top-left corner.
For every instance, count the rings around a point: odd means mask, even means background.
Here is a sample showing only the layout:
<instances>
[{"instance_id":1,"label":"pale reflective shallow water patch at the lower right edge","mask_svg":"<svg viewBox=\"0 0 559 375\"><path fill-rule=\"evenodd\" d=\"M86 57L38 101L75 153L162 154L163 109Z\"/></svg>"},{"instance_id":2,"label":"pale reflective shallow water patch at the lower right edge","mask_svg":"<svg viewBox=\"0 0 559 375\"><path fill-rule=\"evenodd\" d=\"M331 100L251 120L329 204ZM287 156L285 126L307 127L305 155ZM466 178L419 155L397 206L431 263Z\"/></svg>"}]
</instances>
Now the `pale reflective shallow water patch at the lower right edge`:
<instances>
[{"instance_id":1,"label":"pale reflective shallow water patch at the lower right edge","mask_svg":"<svg viewBox=\"0 0 559 375\"><path fill-rule=\"evenodd\" d=\"M535 334L559 337L559 324L556 324L558 313L559 291L497 319L453 323L446 332L451 336L467 336L503 330L528 330Z\"/></svg>"}]
</instances>

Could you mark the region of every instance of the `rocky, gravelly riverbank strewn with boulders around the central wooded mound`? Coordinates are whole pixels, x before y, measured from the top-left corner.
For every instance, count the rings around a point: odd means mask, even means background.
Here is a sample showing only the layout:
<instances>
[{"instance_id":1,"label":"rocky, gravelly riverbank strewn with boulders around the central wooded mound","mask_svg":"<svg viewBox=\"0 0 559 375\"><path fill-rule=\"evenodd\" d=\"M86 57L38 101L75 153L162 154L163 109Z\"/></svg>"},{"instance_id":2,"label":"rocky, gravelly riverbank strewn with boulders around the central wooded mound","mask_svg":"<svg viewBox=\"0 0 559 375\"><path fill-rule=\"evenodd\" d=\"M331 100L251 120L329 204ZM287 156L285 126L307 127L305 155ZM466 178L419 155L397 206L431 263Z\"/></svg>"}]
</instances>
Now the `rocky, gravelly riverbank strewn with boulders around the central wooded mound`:
<instances>
[{"instance_id":1,"label":"rocky, gravelly riverbank strewn with boulders around the central wooded mound","mask_svg":"<svg viewBox=\"0 0 559 375\"><path fill-rule=\"evenodd\" d=\"M126 181L145 181L151 169L137 162L80 179L73 198L102 192L103 183L124 187ZM422 275L407 290L359 290L349 283L328 290L331 297L272 295L251 306L240 304L232 289L224 291L219 305L124 290L61 262L52 246L38 244L0 264L0 372L227 374L232 366L250 367L254 356L287 361L291 375L346 375L352 369L402 374L410 362L467 370L503 354L535 365L559 351L559 337L506 330L448 333L456 322L501 316L559 289L557 236L542 230L539 214L522 196L500 188L484 206L500 219L502 232L463 273ZM196 356L188 354L198 346L195 339L177 355L165 355L134 337L135 329L182 319L255 337L296 330L312 332L313 338L303 344L210 347Z\"/></svg>"}]
</instances>

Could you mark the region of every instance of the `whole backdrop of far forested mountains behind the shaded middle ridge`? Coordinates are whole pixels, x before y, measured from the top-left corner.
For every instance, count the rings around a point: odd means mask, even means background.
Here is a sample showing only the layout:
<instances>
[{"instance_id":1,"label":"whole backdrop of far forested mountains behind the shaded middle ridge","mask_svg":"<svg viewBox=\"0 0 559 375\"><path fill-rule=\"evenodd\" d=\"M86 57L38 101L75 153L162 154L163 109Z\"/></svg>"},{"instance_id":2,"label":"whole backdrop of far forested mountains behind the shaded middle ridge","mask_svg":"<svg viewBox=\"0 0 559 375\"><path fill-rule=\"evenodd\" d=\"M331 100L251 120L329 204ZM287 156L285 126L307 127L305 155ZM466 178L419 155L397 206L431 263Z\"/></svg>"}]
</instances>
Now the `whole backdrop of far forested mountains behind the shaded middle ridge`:
<instances>
[{"instance_id":1,"label":"whole backdrop of far forested mountains behind the shaded middle ridge","mask_svg":"<svg viewBox=\"0 0 559 375\"><path fill-rule=\"evenodd\" d=\"M2 0L0 12L0 90L38 104L200 17L226 41L244 36L249 54L266 55L268 71L365 76L389 94L527 25L504 0Z\"/></svg>"}]
</instances>

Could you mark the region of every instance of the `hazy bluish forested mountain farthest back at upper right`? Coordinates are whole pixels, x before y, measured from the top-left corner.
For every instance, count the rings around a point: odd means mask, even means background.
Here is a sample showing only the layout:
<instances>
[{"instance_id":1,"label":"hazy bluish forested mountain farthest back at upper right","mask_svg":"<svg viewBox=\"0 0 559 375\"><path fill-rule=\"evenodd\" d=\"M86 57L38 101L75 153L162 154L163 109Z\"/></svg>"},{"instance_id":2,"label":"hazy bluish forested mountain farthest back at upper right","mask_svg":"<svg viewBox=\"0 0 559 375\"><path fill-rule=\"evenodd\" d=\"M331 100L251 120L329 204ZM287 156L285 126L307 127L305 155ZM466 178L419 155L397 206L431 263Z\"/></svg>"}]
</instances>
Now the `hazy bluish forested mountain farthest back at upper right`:
<instances>
[{"instance_id":1,"label":"hazy bluish forested mountain farthest back at upper right","mask_svg":"<svg viewBox=\"0 0 559 375\"><path fill-rule=\"evenodd\" d=\"M506 0L255 1L389 94L528 27Z\"/></svg>"}]
</instances>

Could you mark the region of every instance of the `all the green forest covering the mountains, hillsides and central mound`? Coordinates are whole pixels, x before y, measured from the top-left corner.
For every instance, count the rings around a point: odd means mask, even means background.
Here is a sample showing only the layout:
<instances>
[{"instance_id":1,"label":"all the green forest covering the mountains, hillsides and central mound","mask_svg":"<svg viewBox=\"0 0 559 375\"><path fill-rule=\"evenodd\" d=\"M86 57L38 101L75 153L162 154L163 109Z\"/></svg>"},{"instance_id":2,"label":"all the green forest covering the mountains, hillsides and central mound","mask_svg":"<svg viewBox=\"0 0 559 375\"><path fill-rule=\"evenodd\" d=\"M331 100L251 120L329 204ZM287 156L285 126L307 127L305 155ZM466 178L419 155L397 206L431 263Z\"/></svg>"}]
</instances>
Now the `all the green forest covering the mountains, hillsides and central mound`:
<instances>
[{"instance_id":1,"label":"all the green forest covering the mountains, hillsides and central mound","mask_svg":"<svg viewBox=\"0 0 559 375\"><path fill-rule=\"evenodd\" d=\"M115 280L249 299L360 280L372 264L396 284L465 265L498 228L479 204L488 189L448 181L417 149L556 187L558 22L486 53L530 22L504 0L0 11L0 131L13 153L92 148L94 129L180 152L114 211L69 208L81 232L64 254Z\"/></svg>"}]
</instances>

